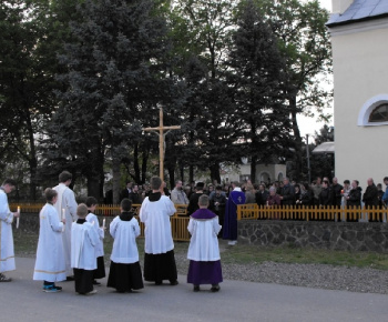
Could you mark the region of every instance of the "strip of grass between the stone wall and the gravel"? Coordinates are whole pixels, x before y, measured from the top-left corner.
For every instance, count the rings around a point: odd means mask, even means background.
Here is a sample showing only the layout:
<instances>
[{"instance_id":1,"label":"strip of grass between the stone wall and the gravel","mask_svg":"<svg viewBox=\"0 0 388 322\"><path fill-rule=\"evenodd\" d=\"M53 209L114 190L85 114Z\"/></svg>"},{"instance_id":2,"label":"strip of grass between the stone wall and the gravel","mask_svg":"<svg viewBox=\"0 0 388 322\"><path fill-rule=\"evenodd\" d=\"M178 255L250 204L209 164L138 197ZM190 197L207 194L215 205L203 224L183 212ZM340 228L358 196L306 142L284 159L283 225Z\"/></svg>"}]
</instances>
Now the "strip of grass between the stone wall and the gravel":
<instances>
[{"instance_id":1,"label":"strip of grass between the stone wall and the gravel","mask_svg":"<svg viewBox=\"0 0 388 322\"><path fill-rule=\"evenodd\" d=\"M35 256L38 234L16 233L14 251L17 256ZM113 239L106 234L104 240L105 261L109 263L109 254L112 251ZM137 239L137 246L141 259L144 254L144 239ZM188 242L175 242L175 253L184 256L187 252ZM315 263L345 265L358 268L374 268L388 270L388 254L371 252L348 252L318 250L310 248L269 248L236 244L228 246L225 241L219 241L221 259L224 264L254 264L266 261L279 263Z\"/></svg>"}]
</instances>

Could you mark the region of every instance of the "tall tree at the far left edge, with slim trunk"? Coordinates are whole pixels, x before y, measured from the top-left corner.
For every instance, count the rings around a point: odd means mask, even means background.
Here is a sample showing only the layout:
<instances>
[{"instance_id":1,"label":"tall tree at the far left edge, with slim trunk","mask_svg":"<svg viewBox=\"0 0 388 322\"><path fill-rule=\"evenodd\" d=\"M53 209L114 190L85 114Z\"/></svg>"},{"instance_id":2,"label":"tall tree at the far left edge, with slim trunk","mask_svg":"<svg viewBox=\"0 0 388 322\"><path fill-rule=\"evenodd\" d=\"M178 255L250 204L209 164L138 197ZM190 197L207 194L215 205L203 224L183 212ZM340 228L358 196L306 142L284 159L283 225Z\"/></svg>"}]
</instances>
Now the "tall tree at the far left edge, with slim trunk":
<instances>
[{"instance_id":1,"label":"tall tree at the far left edge, with slim trunk","mask_svg":"<svg viewBox=\"0 0 388 322\"><path fill-rule=\"evenodd\" d=\"M45 0L0 3L1 147L8 160L22 159L28 163L29 194L33 200L39 159L37 138L54 101L47 53L41 51L48 8Z\"/></svg>"}]
</instances>

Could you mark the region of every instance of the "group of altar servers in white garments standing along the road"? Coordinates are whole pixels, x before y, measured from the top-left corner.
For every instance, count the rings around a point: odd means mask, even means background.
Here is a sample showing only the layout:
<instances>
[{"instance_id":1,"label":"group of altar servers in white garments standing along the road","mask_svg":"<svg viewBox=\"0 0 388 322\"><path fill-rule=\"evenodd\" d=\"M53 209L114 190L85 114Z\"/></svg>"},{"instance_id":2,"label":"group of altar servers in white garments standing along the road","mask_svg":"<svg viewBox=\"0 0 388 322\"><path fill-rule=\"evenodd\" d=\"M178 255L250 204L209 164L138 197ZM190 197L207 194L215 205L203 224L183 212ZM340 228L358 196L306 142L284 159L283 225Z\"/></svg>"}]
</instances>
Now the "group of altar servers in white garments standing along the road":
<instances>
[{"instance_id":1,"label":"group of altar servers in white garments standing along the road","mask_svg":"<svg viewBox=\"0 0 388 322\"><path fill-rule=\"evenodd\" d=\"M101 285L98 280L105 276L103 240L105 220L102 225L94 214L98 201L89 197L78 204L70 172L59 175L60 183L44 191L47 203L39 213L40 230L33 280L43 281L47 293L62 291L57 285L62 281L74 281L79 294L92 295ZM16 188L13 180L7 179L0 189L0 282L10 282L6 272L16 270L12 222L19 212L11 212L7 194ZM108 288L120 293L144 288L143 279L161 285L167 280L177 285L177 270L174 255L170 217L176 211L170 195L165 194L164 182L159 177L151 178L151 191L142 200L140 221L145 227L144 274L139 262L136 238L140 224L133 212L134 200L124 195L120 215L109 225L113 249L108 276ZM217 215L208 210L210 198L197 199L197 210L192 213L187 230L192 234L187 250L190 268L187 283L198 292L200 285L211 284L211 291L219 291L223 281L217 234L221 230Z\"/></svg>"}]
</instances>

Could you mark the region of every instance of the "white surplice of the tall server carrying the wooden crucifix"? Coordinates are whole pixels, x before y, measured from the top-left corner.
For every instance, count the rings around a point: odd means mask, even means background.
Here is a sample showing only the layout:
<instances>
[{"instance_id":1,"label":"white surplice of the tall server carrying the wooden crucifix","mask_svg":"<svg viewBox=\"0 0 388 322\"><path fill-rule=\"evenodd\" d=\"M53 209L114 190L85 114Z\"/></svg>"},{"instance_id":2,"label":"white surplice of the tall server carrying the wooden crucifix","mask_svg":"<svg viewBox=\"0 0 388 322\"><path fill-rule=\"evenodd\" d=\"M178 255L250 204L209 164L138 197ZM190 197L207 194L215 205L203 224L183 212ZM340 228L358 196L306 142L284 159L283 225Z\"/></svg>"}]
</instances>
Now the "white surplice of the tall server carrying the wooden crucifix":
<instances>
[{"instance_id":1,"label":"white surplice of the tall server carrying the wooden crucifix","mask_svg":"<svg viewBox=\"0 0 388 322\"><path fill-rule=\"evenodd\" d=\"M144 222L144 251L149 254L162 254L174 249L170 217L175 213L174 203L162 195L157 201L146 197L140 209L140 220Z\"/></svg>"}]
</instances>

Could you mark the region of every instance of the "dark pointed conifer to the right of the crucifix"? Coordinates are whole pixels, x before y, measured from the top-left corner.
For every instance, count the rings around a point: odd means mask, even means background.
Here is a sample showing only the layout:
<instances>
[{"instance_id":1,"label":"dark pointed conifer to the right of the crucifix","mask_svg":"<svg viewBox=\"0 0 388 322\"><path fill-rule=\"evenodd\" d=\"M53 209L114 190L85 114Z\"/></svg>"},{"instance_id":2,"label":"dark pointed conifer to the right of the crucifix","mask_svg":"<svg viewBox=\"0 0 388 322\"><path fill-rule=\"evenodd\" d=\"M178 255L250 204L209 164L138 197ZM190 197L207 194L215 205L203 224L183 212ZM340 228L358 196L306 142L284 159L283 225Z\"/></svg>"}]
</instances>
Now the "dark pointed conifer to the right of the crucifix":
<instances>
[{"instance_id":1,"label":"dark pointed conifer to the right of the crucifix","mask_svg":"<svg viewBox=\"0 0 388 322\"><path fill-rule=\"evenodd\" d=\"M285 61L277 38L251 0L239 9L233 44L228 79L243 127L241 147L252 159L251 175L256 180L257 161L272 161L290 143Z\"/></svg>"}]
</instances>

